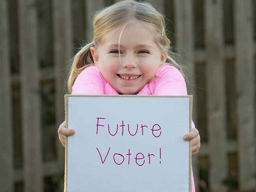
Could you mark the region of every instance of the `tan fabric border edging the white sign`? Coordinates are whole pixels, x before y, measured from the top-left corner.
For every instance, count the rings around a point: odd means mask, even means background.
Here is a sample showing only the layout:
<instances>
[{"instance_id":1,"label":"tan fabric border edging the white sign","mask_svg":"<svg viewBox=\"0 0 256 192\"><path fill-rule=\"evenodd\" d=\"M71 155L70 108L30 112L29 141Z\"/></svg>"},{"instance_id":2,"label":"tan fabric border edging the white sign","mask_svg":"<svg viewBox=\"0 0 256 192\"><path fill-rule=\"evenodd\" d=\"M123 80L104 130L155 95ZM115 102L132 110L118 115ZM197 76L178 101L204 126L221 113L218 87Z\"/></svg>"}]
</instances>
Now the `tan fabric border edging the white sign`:
<instances>
[{"instance_id":1,"label":"tan fabric border edging the white sign","mask_svg":"<svg viewBox=\"0 0 256 192\"><path fill-rule=\"evenodd\" d=\"M167 95L65 95L65 126L68 125L68 97L187 97L189 98L189 131L191 131L191 120L192 120L192 95L185 96L167 96ZM68 128L68 127L67 127ZM66 137L65 142L65 182L64 182L64 192L67 192L67 145L68 139ZM189 142L189 192L192 191L191 183L191 141Z\"/></svg>"}]
</instances>

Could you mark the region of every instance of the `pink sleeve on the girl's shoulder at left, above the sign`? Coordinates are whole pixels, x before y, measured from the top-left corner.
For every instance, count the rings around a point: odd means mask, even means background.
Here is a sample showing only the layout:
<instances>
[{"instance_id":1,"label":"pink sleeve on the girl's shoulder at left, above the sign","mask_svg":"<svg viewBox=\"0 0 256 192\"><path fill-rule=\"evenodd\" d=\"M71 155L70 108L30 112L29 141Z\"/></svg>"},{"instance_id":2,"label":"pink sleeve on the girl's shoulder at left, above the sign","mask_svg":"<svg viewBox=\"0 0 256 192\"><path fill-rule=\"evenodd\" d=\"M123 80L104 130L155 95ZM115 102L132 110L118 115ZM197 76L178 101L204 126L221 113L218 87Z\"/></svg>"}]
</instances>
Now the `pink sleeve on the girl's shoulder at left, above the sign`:
<instances>
[{"instance_id":1,"label":"pink sleeve on the girl's shoulder at left, above the sign","mask_svg":"<svg viewBox=\"0 0 256 192\"><path fill-rule=\"evenodd\" d=\"M85 68L75 79L72 95L103 95L104 78L96 66Z\"/></svg>"}]
</instances>

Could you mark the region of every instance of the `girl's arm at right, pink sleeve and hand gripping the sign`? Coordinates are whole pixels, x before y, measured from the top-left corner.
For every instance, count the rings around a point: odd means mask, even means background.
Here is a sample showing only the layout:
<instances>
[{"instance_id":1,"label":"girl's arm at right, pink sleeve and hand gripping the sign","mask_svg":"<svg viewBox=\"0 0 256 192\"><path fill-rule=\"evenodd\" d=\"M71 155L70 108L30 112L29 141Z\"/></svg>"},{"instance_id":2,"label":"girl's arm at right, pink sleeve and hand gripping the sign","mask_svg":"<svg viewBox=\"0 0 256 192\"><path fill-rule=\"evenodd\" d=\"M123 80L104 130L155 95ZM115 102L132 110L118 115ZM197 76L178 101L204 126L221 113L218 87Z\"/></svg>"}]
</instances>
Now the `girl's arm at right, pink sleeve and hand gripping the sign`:
<instances>
[{"instance_id":1,"label":"girl's arm at right, pink sleeve and hand gripping the sign","mask_svg":"<svg viewBox=\"0 0 256 192\"><path fill-rule=\"evenodd\" d=\"M154 95L188 95L184 77L180 71L173 66L165 65L156 74ZM192 129L183 139L191 141L192 155L198 153L200 148L200 135L192 121Z\"/></svg>"}]
</instances>

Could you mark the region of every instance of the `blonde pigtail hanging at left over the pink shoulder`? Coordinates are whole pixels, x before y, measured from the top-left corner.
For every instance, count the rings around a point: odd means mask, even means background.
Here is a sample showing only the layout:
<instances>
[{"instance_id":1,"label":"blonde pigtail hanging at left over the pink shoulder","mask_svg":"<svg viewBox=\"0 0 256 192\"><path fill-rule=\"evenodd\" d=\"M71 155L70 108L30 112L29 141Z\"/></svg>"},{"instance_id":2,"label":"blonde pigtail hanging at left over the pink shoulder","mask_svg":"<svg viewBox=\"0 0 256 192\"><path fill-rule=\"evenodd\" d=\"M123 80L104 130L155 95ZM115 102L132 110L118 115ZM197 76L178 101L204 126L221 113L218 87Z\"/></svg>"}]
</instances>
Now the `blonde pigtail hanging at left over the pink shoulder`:
<instances>
[{"instance_id":1,"label":"blonde pigtail hanging at left over the pink shoulder","mask_svg":"<svg viewBox=\"0 0 256 192\"><path fill-rule=\"evenodd\" d=\"M93 46L93 42L85 45L73 58L72 67L70 74L67 79L68 92L72 93L72 86L75 78L82 72L86 67L94 65L93 58L91 55L90 47Z\"/></svg>"}]
</instances>

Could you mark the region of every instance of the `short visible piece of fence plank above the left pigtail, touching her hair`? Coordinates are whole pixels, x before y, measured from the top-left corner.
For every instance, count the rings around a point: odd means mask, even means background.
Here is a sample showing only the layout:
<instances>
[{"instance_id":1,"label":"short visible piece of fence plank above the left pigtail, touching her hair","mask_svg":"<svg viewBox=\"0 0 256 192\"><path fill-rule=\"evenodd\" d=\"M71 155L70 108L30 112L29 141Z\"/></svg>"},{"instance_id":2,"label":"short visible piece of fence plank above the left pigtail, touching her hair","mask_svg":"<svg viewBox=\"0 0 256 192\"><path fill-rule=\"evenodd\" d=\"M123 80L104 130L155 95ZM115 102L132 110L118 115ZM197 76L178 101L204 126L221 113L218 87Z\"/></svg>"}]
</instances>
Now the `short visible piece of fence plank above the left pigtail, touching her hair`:
<instances>
[{"instance_id":1,"label":"short visible piece of fence plank above the left pigtail, touching her hair","mask_svg":"<svg viewBox=\"0 0 256 192\"><path fill-rule=\"evenodd\" d=\"M94 1L88 1L85 0L85 20L86 20L86 40L92 41L93 39L93 28L92 28L92 22L93 22L93 14L96 10L103 8L105 5L105 0L94 0Z\"/></svg>"}]
</instances>

